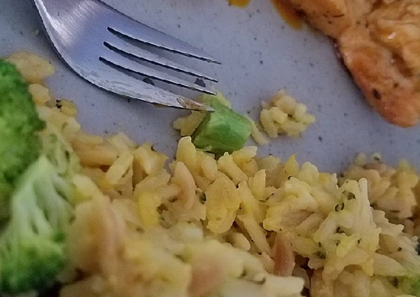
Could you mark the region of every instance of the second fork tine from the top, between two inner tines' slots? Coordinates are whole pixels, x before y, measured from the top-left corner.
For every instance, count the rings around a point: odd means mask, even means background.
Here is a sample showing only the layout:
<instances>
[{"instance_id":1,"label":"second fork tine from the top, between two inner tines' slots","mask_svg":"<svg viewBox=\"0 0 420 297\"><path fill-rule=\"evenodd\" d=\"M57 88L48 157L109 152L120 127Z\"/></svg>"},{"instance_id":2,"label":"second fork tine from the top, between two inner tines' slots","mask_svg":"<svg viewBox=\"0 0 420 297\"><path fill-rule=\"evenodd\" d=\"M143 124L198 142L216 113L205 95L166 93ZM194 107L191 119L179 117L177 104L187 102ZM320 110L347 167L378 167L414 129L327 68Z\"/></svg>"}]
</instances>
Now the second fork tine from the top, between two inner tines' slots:
<instances>
[{"instance_id":1,"label":"second fork tine from the top, between two inner tines' slots","mask_svg":"<svg viewBox=\"0 0 420 297\"><path fill-rule=\"evenodd\" d=\"M130 44L129 42L126 42L118 37L116 37L113 34L110 34L109 38L105 40L105 46L111 47L113 49L118 49L122 52L125 52L127 54L131 54L139 59L142 59L144 61L150 62L155 65L160 65L165 68L169 68L178 72L183 72L195 77L200 77L206 80L212 80L214 82L218 82L217 79L211 77L210 75L206 75L202 72L199 72L197 70L191 69L189 67L186 67L184 65L180 65L176 62L173 62L169 59L165 59L164 57L160 57L157 54L153 54L151 52L148 52L144 49L139 48L138 46L135 46L133 44Z\"/></svg>"}]
</instances>

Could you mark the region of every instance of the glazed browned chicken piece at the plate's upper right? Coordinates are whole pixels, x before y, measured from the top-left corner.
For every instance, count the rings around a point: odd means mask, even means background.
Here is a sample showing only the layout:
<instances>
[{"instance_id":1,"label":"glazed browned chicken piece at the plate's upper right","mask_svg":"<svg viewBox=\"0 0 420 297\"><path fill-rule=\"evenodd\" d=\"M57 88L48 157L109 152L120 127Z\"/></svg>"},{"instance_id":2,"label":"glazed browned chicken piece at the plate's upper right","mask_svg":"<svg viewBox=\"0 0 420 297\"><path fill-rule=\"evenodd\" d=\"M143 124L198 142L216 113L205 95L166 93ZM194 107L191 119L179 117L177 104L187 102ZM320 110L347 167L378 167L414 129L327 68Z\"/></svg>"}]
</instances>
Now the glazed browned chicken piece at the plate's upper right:
<instances>
[{"instance_id":1,"label":"glazed browned chicken piece at the plate's upper right","mask_svg":"<svg viewBox=\"0 0 420 297\"><path fill-rule=\"evenodd\" d=\"M420 119L420 0L289 0L336 39L367 101L393 124Z\"/></svg>"}]
</instances>

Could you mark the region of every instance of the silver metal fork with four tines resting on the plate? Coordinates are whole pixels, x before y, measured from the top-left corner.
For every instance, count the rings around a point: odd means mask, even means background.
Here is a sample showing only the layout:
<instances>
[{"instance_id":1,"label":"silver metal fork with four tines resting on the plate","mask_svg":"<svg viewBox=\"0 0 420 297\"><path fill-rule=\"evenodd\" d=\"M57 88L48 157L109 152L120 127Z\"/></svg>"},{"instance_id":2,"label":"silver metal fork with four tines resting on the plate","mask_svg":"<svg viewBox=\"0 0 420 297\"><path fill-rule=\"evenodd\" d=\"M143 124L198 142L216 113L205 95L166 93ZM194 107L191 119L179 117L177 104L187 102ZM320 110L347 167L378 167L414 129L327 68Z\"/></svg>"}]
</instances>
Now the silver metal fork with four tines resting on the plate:
<instances>
[{"instance_id":1,"label":"silver metal fork with four tines resting on the plate","mask_svg":"<svg viewBox=\"0 0 420 297\"><path fill-rule=\"evenodd\" d=\"M217 82L202 72L180 65L140 47L141 44L186 57L220 64L201 49L139 23L100 0L34 0L55 49L77 74L100 88L165 106L213 109L157 88L150 80L215 95L204 84L190 83L156 68ZM147 64L160 67L150 67Z\"/></svg>"}]
</instances>

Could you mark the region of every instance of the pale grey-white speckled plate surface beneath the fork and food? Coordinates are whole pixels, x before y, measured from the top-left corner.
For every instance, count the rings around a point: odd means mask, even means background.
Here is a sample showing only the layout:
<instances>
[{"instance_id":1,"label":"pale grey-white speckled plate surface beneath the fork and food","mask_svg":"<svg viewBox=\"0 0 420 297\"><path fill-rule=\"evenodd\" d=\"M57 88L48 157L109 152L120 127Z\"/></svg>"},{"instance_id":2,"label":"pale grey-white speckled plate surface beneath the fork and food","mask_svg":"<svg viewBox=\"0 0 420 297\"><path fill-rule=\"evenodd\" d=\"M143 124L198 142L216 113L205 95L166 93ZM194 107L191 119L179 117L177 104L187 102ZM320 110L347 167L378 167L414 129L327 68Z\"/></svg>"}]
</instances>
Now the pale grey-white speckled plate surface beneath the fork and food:
<instances>
[{"instance_id":1,"label":"pale grey-white speckled plate surface beneath the fork and food","mask_svg":"<svg viewBox=\"0 0 420 297\"><path fill-rule=\"evenodd\" d=\"M260 154L287 158L297 152L300 161L311 161L321 170L341 170L357 152L381 152L386 161L407 158L419 168L419 128L394 127L371 111L336 59L330 41L312 30L287 26L269 0L253 0L245 9L228 6L226 0L106 2L220 59L222 66L193 65L218 77L217 88L236 110L256 118L260 101L284 87L306 103L317 117L316 124L302 138L272 141L260 148ZM178 135L171 121L184 111L128 102L89 85L63 65L45 36L33 34L41 25L31 1L2 0L1 4L0 55L29 50L49 58L57 71L47 84L57 97L76 102L79 120L88 131L123 131L173 154Z\"/></svg>"}]
</instances>

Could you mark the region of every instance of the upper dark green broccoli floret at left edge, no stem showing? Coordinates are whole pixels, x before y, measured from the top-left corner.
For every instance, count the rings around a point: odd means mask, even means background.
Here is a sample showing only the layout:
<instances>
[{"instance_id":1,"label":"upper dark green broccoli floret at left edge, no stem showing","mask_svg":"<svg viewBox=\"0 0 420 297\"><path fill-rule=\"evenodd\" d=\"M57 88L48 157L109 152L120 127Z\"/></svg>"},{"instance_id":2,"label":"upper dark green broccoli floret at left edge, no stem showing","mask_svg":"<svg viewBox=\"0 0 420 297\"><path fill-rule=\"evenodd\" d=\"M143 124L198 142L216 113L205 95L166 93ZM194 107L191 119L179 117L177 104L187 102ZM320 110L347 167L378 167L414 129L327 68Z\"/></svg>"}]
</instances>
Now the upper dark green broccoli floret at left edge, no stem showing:
<instances>
[{"instance_id":1,"label":"upper dark green broccoli floret at left edge, no stem showing","mask_svg":"<svg viewBox=\"0 0 420 297\"><path fill-rule=\"evenodd\" d=\"M0 59L0 219L8 216L14 181L40 154L35 132L44 126L28 84L13 64Z\"/></svg>"}]
</instances>

